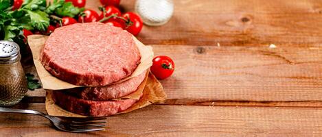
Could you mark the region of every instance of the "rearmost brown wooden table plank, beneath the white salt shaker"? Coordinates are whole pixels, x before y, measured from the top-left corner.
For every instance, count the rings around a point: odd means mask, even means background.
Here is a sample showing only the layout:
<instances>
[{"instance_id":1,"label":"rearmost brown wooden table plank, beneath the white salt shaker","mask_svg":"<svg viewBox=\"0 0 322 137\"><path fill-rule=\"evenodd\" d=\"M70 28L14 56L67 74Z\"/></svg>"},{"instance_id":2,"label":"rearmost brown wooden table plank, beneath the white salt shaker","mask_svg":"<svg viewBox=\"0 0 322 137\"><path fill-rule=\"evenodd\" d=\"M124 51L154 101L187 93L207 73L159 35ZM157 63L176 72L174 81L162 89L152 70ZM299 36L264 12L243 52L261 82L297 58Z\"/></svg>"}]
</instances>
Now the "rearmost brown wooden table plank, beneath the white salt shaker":
<instances>
[{"instance_id":1,"label":"rearmost brown wooden table plank, beneath the white salt shaker","mask_svg":"<svg viewBox=\"0 0 322 137\"><path fill-rule=\"evenodd\" d=\"M97 9L98 0L87 1ZM121 2L134 11L135 0ZM158 45L321 46L319 0L176 0L174 15L160 27L144 26L138 38Z\"/></svg>"}]
</instances>

